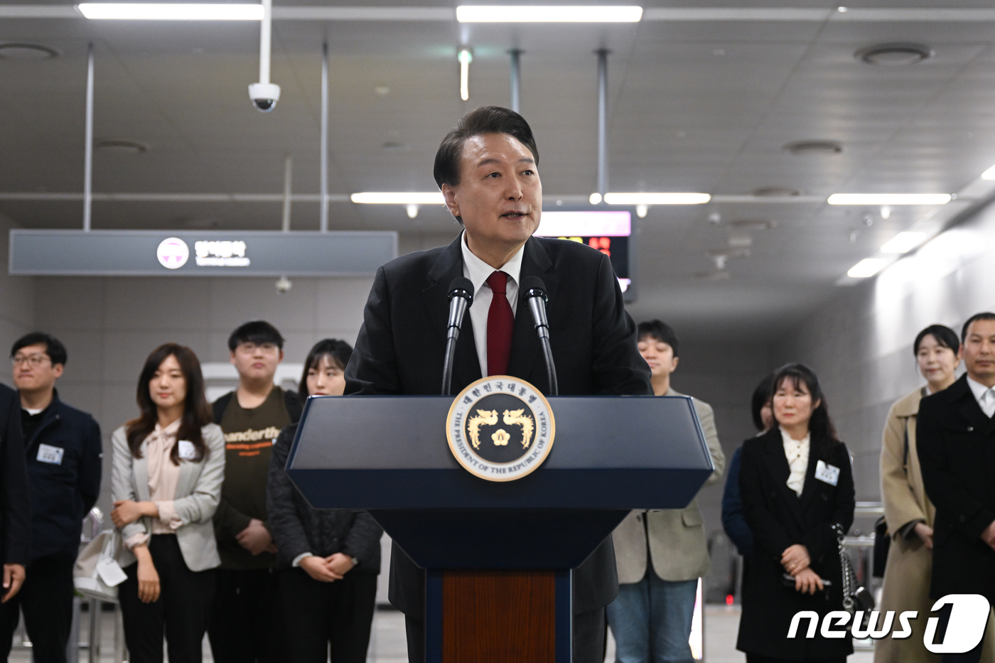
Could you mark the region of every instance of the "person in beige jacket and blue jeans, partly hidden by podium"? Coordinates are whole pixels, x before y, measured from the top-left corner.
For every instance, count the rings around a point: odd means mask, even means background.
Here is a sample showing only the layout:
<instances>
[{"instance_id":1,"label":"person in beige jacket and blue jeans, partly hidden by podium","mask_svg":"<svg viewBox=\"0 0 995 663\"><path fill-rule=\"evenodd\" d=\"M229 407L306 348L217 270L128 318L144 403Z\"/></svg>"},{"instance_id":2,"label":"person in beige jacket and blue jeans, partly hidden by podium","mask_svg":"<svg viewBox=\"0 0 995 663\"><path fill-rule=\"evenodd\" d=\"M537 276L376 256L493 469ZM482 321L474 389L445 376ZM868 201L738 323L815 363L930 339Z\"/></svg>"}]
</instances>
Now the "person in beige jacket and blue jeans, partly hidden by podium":
<instances>
[{"instance_id":1,"label":"person in beige jacket and blue jeans, partly hidden by podium","mask_svg":"<svg viewBox=\"0 0 995 663\"><path fill-rule=\"evenodd\" d=\"M653 392L683 396L671 386L678 367L678 334L659 320L639 324L639 352L650 365ZM693 401L714 472L722 476L725 455L711 406ZM704 521L693 500L685 509L633 511L612 534L618 560L619 595L608 606L620 663L692 663L689 638L695 615L697 579L708 574ZM649 554L647 554L649 551ZM649 559L647 559L649 557Z\"/></svg>"}]
</instances>

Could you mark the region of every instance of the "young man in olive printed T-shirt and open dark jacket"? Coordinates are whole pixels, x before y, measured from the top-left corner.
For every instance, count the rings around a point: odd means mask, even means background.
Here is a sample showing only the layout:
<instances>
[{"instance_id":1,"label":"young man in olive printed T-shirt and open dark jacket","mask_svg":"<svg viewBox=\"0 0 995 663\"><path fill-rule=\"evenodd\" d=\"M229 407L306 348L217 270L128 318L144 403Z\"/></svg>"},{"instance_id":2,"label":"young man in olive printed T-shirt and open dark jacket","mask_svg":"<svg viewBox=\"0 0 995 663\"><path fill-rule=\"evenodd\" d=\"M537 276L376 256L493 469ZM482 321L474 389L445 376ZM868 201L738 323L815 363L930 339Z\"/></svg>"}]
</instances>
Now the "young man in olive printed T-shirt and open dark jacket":
<instances>
[{"instance_id":1,"label":"young man in olive printed T-shirt and open dark jacket","mask_svg":"<svg viewBox=\"0 0 995 663\"><path fill-rule=\"evenodd\" d=\"M208 635L218 663L270 663L286 652L276 546L267 529L266 483L280 431L300 418L297 393L273 383L284 338L263 321L228 338L239 386L214 402L225 433L225 482L214 517L221 567Z\"/></svg>"}]
</instances>

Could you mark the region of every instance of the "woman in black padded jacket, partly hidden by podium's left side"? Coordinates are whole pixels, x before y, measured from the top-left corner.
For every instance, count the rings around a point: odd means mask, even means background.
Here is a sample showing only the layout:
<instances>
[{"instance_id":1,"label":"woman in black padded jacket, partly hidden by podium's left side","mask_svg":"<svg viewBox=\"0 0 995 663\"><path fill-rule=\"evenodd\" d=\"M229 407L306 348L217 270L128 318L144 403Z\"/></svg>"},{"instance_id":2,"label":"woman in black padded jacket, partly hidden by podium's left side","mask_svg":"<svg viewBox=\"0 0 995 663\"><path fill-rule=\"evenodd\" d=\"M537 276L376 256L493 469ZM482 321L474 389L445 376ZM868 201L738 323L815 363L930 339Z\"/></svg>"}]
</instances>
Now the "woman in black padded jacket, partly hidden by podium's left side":
<instances>
[{"instance_id":1,"label":"woman in black padded jacket, partly hidden by podium's left side","mask_svg":"<svg viewBox=\"0 0 995 663\"><path fill-rule=\"evenodd\" d=\"M298 393L341 396L352 347L320 340L304 360ZM277 544L291 663L365 663L383 530L366 512L313 509L285 471L298 432L281 432L270 459L266 511Z\"/></svg>"}]
</instances>

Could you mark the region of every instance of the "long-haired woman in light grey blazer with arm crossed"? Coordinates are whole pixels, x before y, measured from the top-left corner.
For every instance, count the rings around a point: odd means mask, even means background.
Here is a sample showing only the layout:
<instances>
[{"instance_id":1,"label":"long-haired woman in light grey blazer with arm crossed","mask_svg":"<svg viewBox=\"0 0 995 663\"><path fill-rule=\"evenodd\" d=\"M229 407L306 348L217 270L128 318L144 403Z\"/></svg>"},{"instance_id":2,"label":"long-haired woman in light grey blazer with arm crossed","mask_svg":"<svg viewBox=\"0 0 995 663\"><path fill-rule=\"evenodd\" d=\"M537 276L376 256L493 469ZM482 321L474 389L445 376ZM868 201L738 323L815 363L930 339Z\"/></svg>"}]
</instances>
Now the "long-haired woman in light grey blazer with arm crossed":
<instances>
[{"instance_id":1,"label":"long-haired woman in light grey blazer with arm crossed","mask_svg":"<svg viewBox=\"0 0 995 663\"><path fill-rule=\"evenodd\" d=\"M212 519L225 439L211 423L197 355L159 345L138 377L139 415L111 435L110 518L127 575L117 595L132 663L199 663L221 563Z\"/></svg>"}]
</instances>

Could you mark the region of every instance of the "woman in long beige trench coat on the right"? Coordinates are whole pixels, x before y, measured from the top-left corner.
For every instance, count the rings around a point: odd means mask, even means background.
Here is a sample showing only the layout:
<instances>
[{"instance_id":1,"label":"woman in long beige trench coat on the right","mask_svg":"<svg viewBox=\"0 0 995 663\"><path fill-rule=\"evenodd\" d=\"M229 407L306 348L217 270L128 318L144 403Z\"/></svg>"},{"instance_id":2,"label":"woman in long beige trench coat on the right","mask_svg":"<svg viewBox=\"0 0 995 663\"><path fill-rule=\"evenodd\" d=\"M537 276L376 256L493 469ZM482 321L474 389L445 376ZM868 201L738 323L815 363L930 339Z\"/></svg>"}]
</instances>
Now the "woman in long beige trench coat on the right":
<instances>
[{"instance_id":1,"label":"woman in long beige trench coat on the right","mask_svg":"<svg viewBox=\"0 0 995 663\"><path fill-rule=\"evenodd\" d=\"M875 646L875 663L938 663L940 656L922 645L929 608L929 577L932 566L932 526L936 510L922 486L919 457L915 450L915 415L919 401L942 391L956 379L960 363L960 341L956 332L942 325L919 331L912 352L926 385L892 405L885 425L881 450L881 494L885 503L892 546L885 566L881 611L917 610L912 620L912 636L891 637ZM989 621L989 636L992 623ZM991 637L986 638L982 661L992 663Z\"/></svg>"}]
</instances>

